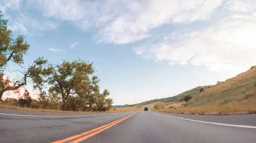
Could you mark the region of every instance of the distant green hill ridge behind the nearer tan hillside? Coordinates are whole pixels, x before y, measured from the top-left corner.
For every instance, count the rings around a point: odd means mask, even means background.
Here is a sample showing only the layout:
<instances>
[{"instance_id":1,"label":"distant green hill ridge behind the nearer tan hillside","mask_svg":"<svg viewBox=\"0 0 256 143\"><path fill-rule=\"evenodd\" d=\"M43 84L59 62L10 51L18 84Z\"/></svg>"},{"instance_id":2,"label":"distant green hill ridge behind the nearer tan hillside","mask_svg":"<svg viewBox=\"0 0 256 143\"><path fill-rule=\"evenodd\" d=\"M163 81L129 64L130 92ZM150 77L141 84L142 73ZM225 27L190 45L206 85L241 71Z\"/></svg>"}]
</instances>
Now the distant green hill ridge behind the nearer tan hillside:
<instances>
[{"instance_id":1,"label":"distant green hill ridge behind the nearer tan hillside","mask_svg":"<svg viewBox=\"0 0 256 143\"><path fill-rule=\"evenodd\" d=\"M203 87L204 89L210 87L209 85L207 86L199 86L199 87L195 87L191 90L187 90L183 93L180 93L178 95L172 96L172 97L167 97L167 98L160 98L160 99L154 99L154 100L149 100L149 101L144 101L141 102L139 104L133 104L130 105L130 107L132 106L143 106L143 105L148 105L148 104L153 104L156 102L164 102L164 103L169 103L169 102L182 102L183 101L183 96L186 95L187 93L191 93L192 95L196 95L199 93L200 88Z\"/></svg>"}]
</instances>

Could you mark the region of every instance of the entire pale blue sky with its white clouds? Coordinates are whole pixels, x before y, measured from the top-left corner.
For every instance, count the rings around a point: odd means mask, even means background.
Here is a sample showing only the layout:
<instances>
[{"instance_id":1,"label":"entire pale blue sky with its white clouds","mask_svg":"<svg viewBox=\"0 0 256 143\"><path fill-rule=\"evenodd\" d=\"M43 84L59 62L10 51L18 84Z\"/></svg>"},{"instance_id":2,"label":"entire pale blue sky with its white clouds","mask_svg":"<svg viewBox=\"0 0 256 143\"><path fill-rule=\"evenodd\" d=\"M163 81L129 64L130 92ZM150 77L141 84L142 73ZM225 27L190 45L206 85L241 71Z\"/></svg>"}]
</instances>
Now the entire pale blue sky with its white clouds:
<instances>
[{"instance_id":1,"label":"entire pale blue sky with its white clouds","mask_svg":"<svg viewBox=\"0 0 256 143\"><path fill-rule=\"evenodd\" d=\"M256 0L1 0L0 10L14 35L26 35L25 63L93 62L114 105L174 96L256 64Z\"/></svg>"}]
</instances>

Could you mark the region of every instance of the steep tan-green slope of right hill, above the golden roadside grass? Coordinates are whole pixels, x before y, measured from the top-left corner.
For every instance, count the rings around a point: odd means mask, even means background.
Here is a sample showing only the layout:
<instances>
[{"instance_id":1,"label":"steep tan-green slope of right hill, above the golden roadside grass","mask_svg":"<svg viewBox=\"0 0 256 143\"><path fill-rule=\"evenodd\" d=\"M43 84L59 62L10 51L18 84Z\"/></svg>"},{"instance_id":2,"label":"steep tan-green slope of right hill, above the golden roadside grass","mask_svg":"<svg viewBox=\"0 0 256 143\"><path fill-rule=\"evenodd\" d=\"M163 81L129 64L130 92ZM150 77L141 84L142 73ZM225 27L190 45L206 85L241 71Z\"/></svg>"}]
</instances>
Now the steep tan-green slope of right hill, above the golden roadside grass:
<instances>
[{"instance_id":1,"label":"steep tan-green slope of right hill, above the golden roadside grass","mask_svg":"<svg viewBox=\"0 0 256 143\"><path fill-rule=\"evenodd\" d=\"M195 95L188 107L221 105L243 101L256 93L256 66Z\"/></svg>"}]
</instances>

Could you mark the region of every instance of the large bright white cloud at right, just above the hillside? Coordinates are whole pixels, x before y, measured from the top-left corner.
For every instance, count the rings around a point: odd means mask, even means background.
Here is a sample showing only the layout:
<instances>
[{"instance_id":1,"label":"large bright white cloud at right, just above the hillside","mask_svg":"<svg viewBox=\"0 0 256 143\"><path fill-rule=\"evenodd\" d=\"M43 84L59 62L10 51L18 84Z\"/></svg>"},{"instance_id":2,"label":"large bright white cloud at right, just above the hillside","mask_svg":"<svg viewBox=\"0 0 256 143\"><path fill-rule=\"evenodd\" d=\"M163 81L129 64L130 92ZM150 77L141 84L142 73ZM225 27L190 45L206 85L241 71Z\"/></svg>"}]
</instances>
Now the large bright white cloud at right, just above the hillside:
<instances>
[{"instance_id":1,"label":"large bright white cloud at right, just above the hillside","mask_svg":"<svg viewBox=\"0 0 256 143\"><path fill-rule=\"evenodd\" d=\"M136 47L134 51L171 65L191 63L204 65L210 71L247 70L256 64L256 14L231 12L207 28L181 34L176 31L168 37L171 42Z\"/></svg>"}]
</instances>

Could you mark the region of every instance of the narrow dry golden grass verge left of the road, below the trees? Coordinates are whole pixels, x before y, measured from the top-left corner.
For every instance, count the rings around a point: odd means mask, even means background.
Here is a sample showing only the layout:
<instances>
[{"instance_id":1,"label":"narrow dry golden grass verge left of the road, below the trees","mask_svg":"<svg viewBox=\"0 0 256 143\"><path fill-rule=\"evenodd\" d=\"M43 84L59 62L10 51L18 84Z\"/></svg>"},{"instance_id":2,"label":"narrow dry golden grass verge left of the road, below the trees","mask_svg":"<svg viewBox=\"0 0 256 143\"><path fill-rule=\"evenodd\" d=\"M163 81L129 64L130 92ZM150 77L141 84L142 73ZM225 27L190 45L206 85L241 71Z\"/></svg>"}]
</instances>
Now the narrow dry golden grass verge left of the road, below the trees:
<instances>
[{"instance_id":1,"label":"narrow dry golden grass verge left of the road, below the trees","mask_svg":"<svg viewBox=\"0 0 256 143\"><path fill-rule=\"evenodd\" d=\"M96 112L75 112L75 111L62 111L62 110L51 110L51 109L31 109L26 107L17 107L11 105L0 104L0 109L12 109L12 110L19 110L19 111L28 111L28 112L49 112L49 113L75 113L75 114L88 114L88 113L100 113L99 111ZM114 110L115 109L115 110ZM129 112L129 111L139 111L143 110L142 107L120 107L120 108L112 108L109 111L105 111L105 113L115 113L115 112ZM104 112L104 111L102 111Z\"/></svg>"}]
</instances>

